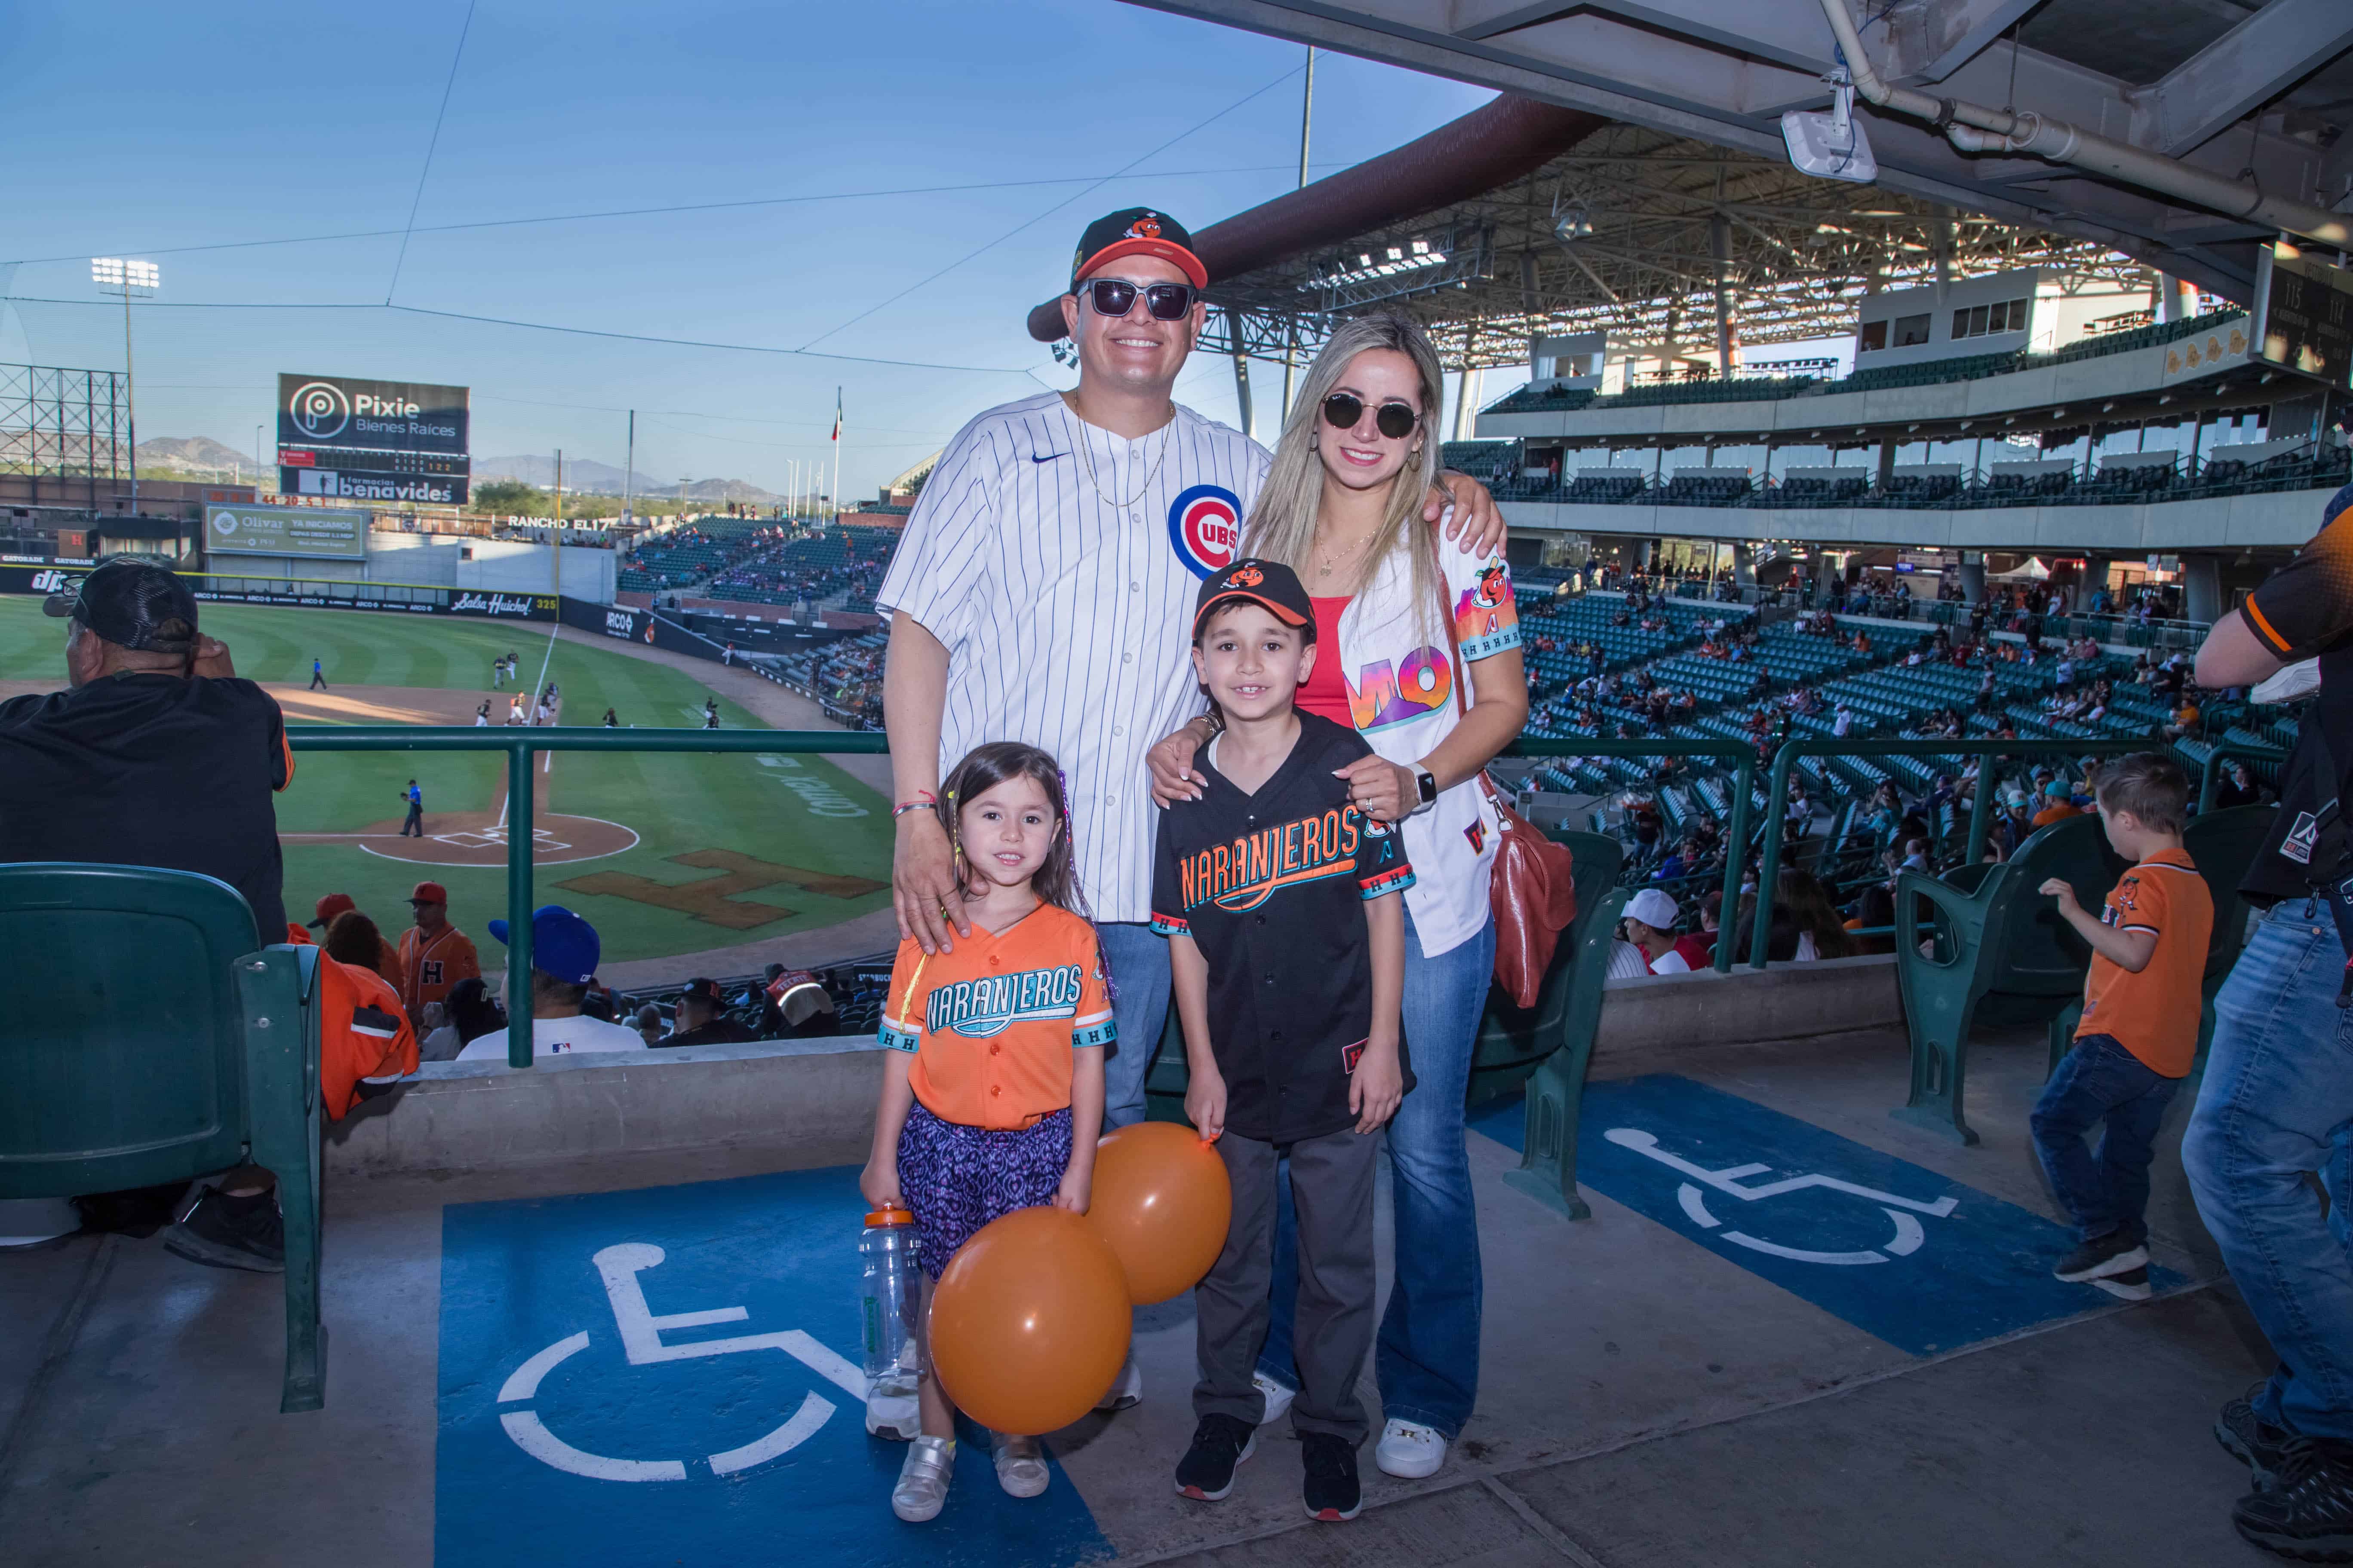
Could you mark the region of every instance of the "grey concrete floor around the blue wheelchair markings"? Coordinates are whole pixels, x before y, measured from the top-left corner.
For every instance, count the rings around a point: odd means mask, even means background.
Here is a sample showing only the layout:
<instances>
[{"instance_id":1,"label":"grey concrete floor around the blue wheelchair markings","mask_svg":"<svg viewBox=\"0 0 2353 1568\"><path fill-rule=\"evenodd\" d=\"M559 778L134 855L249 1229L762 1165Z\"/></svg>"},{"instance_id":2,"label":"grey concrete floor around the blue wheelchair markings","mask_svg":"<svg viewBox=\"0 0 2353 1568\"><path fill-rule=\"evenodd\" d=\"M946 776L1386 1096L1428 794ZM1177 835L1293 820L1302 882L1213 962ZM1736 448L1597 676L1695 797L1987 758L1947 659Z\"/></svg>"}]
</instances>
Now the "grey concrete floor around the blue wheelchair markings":
<instances>
[{"instance_id":1,"label":"grey concrete floor around the blue wheelchair markings","mask_svg":"<svg viewBox=\"0 0 2353 1568\"><path fill-rule=\"evenodd\" d=\"M1887 1117L1906 1077L1887 1034L1689 1051L1673 1070L2057 1213L2024 1133L2038 1039L1979 1041L1977 1150ZM2271 1561L2231 1533L2245 1472L2209 1436L2268 1356L2181 1185L2184 1114L2151 1220L2158 1260L2193 1284L1927 1359L1595 1192L1569 1225L1504 1185L1508 1150L1473 1138L1485 1373L1447 1469L1398 1483L1367 1453L1365 1516L1311 1526L1297 1443L1268 1427L1233 1497L1176 1497L1186 1300L1139 1314L1146 1403L1071 1427L1056 1453L1120 1563ZM424 1568L445 1204L788 1164L729 1150L332 1192L329 1399L313 1415L278 1415L278 1279L129 1239L0 1258L0 1559Z\"/></svg>"}]
</instances>

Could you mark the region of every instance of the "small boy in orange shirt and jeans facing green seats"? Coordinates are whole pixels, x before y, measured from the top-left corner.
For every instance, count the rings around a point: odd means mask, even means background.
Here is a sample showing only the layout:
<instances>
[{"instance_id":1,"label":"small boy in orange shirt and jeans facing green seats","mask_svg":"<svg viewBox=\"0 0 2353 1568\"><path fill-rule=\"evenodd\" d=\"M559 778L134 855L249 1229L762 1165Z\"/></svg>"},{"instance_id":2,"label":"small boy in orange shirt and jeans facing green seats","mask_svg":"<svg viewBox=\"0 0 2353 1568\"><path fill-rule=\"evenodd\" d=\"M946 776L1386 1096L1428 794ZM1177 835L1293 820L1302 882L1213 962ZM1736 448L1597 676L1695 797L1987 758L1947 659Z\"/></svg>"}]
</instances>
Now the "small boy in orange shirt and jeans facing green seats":
<instances>
[{"instance_id":1,"label":"small boy in orange shirt and jeans facing green seats","mask_svg":"<svg viewBox=\"0 0 2353 1568\"><path fill-rule=\"evenodd\" d=\"M2082 1241L2052 1274L2125 1300L2148 1295L2151 1145L2198 1056L2198 985L2214 931L2214 900L2181 851L2188 797L2167 757L2118 757L2094 773L2092 799L2108 844L2134 865L2099 914L2064 877L2040 889L2092 943L2075 1048L2033 1114L2042 1173ZM2082 1147L2094 1121L2106 1121L2097 1159Z\"/></svg>"}]
</instances>

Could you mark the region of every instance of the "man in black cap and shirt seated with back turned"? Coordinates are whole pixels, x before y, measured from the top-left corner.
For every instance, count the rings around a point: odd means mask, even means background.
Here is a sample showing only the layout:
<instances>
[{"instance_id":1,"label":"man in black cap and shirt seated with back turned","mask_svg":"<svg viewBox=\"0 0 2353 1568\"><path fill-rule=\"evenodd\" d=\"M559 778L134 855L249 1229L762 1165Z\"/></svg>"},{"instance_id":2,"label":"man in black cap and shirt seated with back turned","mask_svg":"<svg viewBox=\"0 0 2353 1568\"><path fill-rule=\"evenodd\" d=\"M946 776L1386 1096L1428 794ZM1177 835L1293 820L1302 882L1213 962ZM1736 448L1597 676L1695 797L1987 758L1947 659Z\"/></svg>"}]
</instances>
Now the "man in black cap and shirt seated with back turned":
<instances>
[{"instance_id":1,"label":"man in black cap and shirt seated with back turned","mask_svg":"<svg viewBox=\"0 0 2353 1568\"><path fill-rule=\"evenodd\" d=\"M184 581L113 557L42 607L66 621L66 691L0 703L0 860L162 865L245 896L261 943L287 940L271 795L294 780L285 715L195 630ZM273 1272L285 1232L271 1178L238 1168L165 1246Z\"/></svg>"}]
</instances>

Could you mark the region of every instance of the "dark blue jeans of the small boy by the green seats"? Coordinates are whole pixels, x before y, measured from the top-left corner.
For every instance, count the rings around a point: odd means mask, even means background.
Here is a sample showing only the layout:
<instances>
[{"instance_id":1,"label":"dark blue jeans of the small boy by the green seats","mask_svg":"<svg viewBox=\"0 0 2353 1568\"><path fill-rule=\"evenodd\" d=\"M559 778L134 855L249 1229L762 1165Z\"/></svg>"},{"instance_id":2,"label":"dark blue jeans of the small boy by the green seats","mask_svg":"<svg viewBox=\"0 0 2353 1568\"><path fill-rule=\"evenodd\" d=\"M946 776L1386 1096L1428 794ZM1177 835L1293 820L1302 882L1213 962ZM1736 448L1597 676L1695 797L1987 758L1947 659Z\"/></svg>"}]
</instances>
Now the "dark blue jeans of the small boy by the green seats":
<instances>
[{"instance_id":1,"label":"dark blue jeans of the small boy by the green seats","mask_svg":"<svg viewBox=\"0 0 2353 1568\"><path fill-rule=\"evenodd\" d=\"M2148 1241L2148 1161L2177 1088L2181 1079L2153 1072L2113 1034L2085 1034L2059 1060L2028 1126L2078 1241L2118 1232L2134 1246ZM2101 1121L2094 1157L2082 1135Z\"/></svg>"}]
</instances>

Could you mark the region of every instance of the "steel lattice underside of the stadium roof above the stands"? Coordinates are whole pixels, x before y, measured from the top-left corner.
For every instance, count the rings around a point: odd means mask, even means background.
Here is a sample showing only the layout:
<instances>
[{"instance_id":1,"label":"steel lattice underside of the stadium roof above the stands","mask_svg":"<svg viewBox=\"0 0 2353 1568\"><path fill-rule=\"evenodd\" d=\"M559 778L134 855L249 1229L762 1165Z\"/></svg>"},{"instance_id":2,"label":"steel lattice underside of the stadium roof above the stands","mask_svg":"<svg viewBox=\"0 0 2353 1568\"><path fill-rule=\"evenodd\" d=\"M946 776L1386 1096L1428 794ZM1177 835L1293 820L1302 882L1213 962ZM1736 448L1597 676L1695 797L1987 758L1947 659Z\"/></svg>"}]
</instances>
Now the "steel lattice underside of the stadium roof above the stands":
<instances>
[{"instance_id":1,"label":"steel lattice underside of the stadium roof above the stands","mask_svg":"<svg viewBox=\"0 0 2353 1568\"><path fill-rule=\"evenodd\" d=\"M1217 280L1205 350L1280 357L1289 331L1405 310L1447 369L1527 364L1532 336L1607 331L1612 355L1713 357L1718 289L1744 350L1854 331L1868 292L2009 268L2148 287L2104 244L1788 162L1602 125L1532 174L1409 221ZM1722 268L1718 273L1718 268Z\"/></svg>"}]
</instances>

